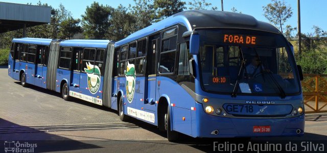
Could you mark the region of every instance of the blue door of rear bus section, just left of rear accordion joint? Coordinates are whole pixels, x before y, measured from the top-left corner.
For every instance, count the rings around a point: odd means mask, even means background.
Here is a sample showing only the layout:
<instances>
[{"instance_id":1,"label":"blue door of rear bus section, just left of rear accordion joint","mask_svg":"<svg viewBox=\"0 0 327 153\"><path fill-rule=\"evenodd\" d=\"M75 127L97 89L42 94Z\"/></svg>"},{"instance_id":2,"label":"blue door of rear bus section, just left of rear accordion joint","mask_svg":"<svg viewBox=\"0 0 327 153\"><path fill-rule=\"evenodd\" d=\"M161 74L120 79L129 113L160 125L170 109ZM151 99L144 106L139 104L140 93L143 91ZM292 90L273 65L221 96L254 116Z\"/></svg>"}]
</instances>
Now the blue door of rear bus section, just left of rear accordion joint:
<instances>
[{"instance_id":1,"label":"blue door of rear bus section, just left of rear accordion joint","mask_svg":"<svg viewBox=\"0 0 327 153\"><path fill-rule=\"evenodd\" d=\"M42 86L43 83L43 53L45 52L45 46L37 46L36 51L36 64L35 64L35 76L34 85ZM46 75L45 75L46 76ZM46 77L45 77L46 78Z\"/></svg>"}]
</instances>

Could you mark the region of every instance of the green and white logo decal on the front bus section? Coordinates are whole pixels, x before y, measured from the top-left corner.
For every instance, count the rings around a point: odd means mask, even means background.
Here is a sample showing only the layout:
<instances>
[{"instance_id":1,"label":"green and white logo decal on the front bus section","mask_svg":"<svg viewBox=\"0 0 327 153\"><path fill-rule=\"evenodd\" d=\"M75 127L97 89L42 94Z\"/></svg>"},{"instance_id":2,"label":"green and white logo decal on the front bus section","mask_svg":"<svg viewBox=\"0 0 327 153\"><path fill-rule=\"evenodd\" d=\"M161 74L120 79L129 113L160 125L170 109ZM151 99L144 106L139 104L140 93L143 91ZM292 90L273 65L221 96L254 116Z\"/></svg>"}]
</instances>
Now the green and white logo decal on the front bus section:
<instances>
[{"instance_id":1,"label":"green and white logo decal on the front bus section","mask_svg":"<svg viewBox=\"0 0 327 153\"><path fill-rule=\"evenodd\" d=\"M126 95L129 103L132 102L135 91L135 65L129 64L127 61L127 71L125 71L126 76Z\"/></svg>"}]
</instances>

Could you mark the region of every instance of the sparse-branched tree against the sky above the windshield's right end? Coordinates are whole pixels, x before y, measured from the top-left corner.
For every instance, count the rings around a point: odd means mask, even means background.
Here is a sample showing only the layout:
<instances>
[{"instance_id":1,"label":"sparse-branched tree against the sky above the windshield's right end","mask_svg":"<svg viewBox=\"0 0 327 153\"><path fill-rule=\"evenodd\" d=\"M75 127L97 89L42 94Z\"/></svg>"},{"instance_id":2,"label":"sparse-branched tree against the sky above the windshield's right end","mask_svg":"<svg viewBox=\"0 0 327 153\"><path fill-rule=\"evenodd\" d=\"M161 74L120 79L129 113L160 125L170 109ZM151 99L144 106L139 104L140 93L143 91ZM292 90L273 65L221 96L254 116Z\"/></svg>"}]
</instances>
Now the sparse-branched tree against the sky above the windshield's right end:
<instances>
[{"instance_id":1,"label":"sparse-branched tree against the sky above the windshield's right end","mask_svg":"<svg viewBox=\"0 0 327 153\"><path fill-rule=\"evenodd\" d=\"M265 11L264 16L274 24L276 27L279 27L283 33L283 26L286 23L287 19L292 17L293 12L291 6L286 6L284 0L281 2L279 0L271 0L272 3L269 3L267 6L263 6Z\"/></svg>"}]
</instances>

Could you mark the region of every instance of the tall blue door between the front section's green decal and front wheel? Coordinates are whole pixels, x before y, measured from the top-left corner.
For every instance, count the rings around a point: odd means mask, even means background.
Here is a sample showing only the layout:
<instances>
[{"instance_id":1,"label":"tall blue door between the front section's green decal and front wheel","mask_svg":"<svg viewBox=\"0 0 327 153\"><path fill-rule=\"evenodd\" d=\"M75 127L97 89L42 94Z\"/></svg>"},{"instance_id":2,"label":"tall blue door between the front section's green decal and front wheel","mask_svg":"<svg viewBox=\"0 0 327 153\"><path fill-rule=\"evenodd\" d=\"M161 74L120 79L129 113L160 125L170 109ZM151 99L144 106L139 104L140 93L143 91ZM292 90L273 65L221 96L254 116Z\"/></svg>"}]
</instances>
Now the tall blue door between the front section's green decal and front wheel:
<instances>
[{"instance_id":1,"label":"tall blue door between the front section's green decal and front wheel","mask_svg":"<svg viewBox=\"0 0 327 153\"><path fill-rule=\"evenodd\" d=\"M157 55L157 46L159 42L159 35L157 37L154 37L152 39L149 39L150 45L148 47L148 59L147 59L147 70L148 70L148 79L145 81L147 82L147 96L145 97L145 110L150 111L156 111L156 70L157 70L157 64L156 64L156 55Z\"/></svg>"}]
</instances>

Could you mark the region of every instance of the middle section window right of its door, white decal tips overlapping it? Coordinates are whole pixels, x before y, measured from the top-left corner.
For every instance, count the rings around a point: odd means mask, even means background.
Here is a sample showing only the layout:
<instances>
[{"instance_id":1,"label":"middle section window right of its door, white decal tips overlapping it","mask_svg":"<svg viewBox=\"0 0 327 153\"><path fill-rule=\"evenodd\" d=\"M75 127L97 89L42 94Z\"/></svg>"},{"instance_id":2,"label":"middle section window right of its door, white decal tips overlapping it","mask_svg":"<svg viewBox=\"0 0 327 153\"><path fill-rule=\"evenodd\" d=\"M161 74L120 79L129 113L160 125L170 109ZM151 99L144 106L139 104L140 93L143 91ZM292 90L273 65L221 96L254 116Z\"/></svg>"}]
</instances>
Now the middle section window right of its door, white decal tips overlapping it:
<instances>
[{"instance_id":1,"label":"middle section window right of its door, white decal tips overlapping it","mask_svg":"<svg viewBox=\"0 0 327 153\"><path fill-rule=\"evenodd\" d=\"M82 72L93 73L96 49L84 49Z\"/></svg>"}]
</instances>

